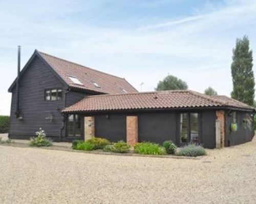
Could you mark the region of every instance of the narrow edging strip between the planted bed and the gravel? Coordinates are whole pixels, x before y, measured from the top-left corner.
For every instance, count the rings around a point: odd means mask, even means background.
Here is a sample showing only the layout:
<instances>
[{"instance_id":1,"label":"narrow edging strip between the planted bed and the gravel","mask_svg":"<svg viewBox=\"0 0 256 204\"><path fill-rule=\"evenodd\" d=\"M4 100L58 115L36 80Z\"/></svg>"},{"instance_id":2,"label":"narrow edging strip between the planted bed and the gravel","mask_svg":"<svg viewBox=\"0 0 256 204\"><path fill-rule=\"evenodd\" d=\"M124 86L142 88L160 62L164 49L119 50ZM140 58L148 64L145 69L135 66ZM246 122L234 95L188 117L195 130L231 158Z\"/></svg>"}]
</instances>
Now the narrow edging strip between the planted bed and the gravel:
<instances>
[{"instance_id":1,"label":"narrow edging strip between the planted bed and the gravel","mask_svg":"<svg viewBox=\"0 0 256 204\"><path fill-rule=\"evenodd\" d=\"M94 155L110 155L110 156L130 156L130 157L151 157L151 158L168 158L168 159L189 159L189 160L201 160L205 156L198 157L185 157L185 156L174 156L174 155L139 155L134 153L115 153L115 152L105 152L105 151L83 151L83 150L75 150L70 147L63 146L50 146L50 147L32 147L25 143L0 143L0 146L11 146L11 147L22 147L22 148L33 148L33 149L47 149L47 150L59 150L59 151L70 151L70 152L78 152L83 154L94 154ZM207 156L207 155L206 155Z\"/></svg>"}]
</instances>

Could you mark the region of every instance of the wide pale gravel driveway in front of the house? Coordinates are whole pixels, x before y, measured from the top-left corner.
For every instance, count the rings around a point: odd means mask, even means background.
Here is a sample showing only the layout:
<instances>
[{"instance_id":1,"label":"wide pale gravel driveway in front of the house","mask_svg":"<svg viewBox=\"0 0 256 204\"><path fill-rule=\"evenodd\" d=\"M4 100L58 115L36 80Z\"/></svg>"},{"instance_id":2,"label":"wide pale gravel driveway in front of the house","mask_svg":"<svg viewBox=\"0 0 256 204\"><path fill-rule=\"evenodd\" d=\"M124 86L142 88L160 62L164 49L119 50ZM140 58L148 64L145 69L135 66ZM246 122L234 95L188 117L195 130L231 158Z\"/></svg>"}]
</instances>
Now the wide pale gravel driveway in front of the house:
<instances>
[{"instance_id":1,"label":"wide pale gravel driveway in front of the house","mask_svg":"<svg viewBox=\"0 0 256 204\"><path fill-rule=\"evenodd\" d=\"M256 138L200 160L0 145L0 203L256 203Z\"/></svg>"}]
</instances>

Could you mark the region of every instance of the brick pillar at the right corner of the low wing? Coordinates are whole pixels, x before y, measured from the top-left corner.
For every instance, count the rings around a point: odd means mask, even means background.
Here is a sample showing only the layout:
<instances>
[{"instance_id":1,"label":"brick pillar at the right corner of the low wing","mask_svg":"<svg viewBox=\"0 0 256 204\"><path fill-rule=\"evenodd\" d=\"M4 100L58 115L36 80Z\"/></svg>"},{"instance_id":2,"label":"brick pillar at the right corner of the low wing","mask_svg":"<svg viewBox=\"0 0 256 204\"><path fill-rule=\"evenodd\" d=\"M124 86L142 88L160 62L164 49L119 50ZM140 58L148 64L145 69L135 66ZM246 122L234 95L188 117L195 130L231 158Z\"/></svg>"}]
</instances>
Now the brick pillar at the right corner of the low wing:
<instances>
[{"instance_id":1,"label":"brick pillar at the right corner of the low wing","mask_svg":"<svg viewBox=\"0 0 256 204\"><path fill-rule=\"evenodd\" d=\"M223 110L216 111L217 121L216 123L219 123L220 125L220 138L219 142L216 141L216 147L222 148L225 145L225 112ZM217 129L217 127L216 127ZM218 139L218 135L216 135L216 139Z\"/></svg>"}]
</instances>

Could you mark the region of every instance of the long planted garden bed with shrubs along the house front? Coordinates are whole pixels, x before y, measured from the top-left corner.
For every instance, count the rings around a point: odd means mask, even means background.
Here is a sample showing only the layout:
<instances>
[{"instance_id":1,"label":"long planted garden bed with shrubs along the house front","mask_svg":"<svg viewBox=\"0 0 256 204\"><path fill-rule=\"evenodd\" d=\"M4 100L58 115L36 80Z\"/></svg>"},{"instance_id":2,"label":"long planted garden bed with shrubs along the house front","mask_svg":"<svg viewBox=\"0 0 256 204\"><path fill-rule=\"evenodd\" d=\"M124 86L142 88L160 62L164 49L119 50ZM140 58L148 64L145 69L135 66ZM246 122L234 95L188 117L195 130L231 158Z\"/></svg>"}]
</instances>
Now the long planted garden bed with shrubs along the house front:
<instances>
[{"instance_id":1,"label":"long planted garden bed with shrubs along the house front","mask_svg":"<svg viewBox=\"0 0 256 204\"><path fill-rule=\"evenodd\" d=\"M74 140L71 147L59 146L46 137L44 130L39 129L36 132L37 137L32 137L26 143L15 143L14 140L3 140L0 137L0 144L13 147L33 147L53 150L65 150L86 152L89 154L101 155L121 155L121 156L139 156L139 157L159 157L159 158L178 158L178 159L200 159L206 155L205 149L200 145L189 144L178 148L168 140L163 145L152 142L135 143L133 147L124 141L111 142L104 138L92 137L86 141ZM200 157L200 158L198 158Z\"/></svg>"}]
</instances>

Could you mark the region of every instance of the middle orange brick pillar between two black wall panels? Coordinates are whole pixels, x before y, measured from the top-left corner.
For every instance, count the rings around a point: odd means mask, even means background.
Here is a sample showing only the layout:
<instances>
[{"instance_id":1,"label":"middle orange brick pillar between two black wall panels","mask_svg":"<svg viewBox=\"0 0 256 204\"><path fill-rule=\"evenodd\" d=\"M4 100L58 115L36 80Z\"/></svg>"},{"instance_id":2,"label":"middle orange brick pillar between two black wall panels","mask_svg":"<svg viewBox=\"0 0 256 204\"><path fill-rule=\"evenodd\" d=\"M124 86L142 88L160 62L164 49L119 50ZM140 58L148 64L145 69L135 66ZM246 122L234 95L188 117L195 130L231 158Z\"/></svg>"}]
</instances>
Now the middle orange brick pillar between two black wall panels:
<instances>
[{"instance_id":1,"label":"middle orange brick pillar between two black wall panels","mask_svg":"<svg viewBox=\"0 0 256 204\"><path fill-rule=\"evenodd\" d=\"M126 116L126 142L134 146L138 142L138 117Z\"/></svg>"}]
</instances>

